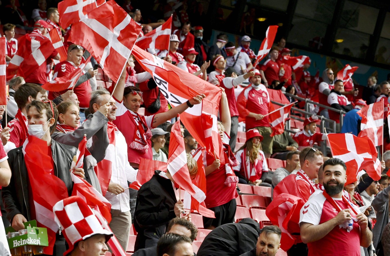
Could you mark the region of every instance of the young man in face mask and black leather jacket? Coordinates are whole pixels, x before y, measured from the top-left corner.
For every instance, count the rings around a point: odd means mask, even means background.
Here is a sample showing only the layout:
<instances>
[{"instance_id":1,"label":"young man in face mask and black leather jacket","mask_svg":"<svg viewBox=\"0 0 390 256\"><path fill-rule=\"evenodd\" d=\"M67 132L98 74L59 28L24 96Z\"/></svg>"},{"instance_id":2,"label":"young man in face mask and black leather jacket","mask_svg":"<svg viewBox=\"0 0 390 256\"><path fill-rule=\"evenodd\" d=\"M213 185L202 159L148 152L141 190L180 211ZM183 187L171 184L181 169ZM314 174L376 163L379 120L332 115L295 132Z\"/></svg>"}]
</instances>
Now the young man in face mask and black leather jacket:
<instances>
[{"instance_id":1,"label":"young man in face mask and black leather jacket","mask_svg":"<svg viewBox=\"0 0 390 256\"><path fill-rule=\"evenodd\" d=\"M50 134L54 131L57 120L57 109L51 102L41 102L34 100L27 107L28 133L47 141L48 154L53 160L53 174L60 178L66 185L68 194L71 195L73 182L71 178L71 162L76 155L76 148L58 143L51 139ZM33 129L34 125L42 125L41 129ZM3 187L2 196L7 218L15 230L24 229L23 222L31 221L30 208L32 203L29 194L31 191L30 179L22 153L22 147L15 148L8 153L8 163L11 168L12 177L9 186ZM84 178L82 168L77 168L74 172ZM44 186L45 184L42 184ZM62 237L63 239L63 237ZM54 248L54 255L65 252L65 241L62 243L63 251ZM62 250L60 249L60 250Z\"/></svg>"}]
</instances>

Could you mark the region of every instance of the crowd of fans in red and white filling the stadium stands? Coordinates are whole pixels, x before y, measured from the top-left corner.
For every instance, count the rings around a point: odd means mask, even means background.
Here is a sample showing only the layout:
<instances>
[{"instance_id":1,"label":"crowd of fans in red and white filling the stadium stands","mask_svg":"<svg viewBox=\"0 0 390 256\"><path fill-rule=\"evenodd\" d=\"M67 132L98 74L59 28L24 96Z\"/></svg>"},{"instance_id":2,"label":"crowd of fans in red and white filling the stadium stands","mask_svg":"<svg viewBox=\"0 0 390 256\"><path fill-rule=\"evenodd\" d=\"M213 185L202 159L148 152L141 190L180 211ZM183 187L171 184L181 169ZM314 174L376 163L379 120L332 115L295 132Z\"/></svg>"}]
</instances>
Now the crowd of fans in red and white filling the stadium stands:
<instances>
[{"instance_id":1,"label":"crowd of fans in red and white filling the stadium stands","mask_svg":"<svg viewBox=\"0 0 390 256\"><path fill-rule=\"evenodd\" d=\"M92 58L73 90L46 91L41 86L51 75L53 78L66 76L90 54L82 46L67 42L71 28L58 25L58 9L47 9L45 0L37 2L38 8L32 10L30 17L22 11L21 1L5 2L1 22L2 35L7 40L7 63L20 47L14 39L16 26L29 25L32 25L30 37L36 41L46 40L48 32L56 30L66 46L67 59L59 62L59 53L54 50L33 75L17 76L7 83L7 112L4 106L0 108L2 127L5 127L0 133L0 147L4 148L0 153L4 226L21 230L24 222L36 218L30 185L34 177L29 177L22 153L28 136L47 142L52 174L65 183L69 196L73 187L71 162L86 136L90 155L83 160L83 168L74 169L73 173L85 178L111 203L109 226L121 247L125 251L128 248L133 224L137 231L134 255L192 255L191 242L197 236L197 228L191 223L191 213L184 211L180 190L175 187L172 175L156 171L138 191L128 187L137 180L142 158L167 162L169 135L177 114L200 104L205 95L197 95L170 108L149 72L144 71L132 55L115 90L97 88L99 71L92 68L96 64ZM359 109L384 99L387 113L389 81L377 84L378 79L383 78L370 76L360 99L357 87L344 88L343 81L335 79L337 70L327 68L319 79L308 72L310 64L294 71L285 62L285 56L290 56L292 51L285 47L283 37L271 48L266 60L254 66L254 50L257 49L250 48L248 35L243 35L236 45L228 42L226 34L218 34L216 43L209 45L203 38L204 26L207 26L200 19L203 14L189 12L188 6L194 6L191 1L166 2L156 4L154 11L147 12L147 19L136 9L137 3L124 1L122 8L143 25L140 36L162 25L172 14L169 49L145 50L222 88L218 132L223 150L219 156L208 152L204 156L205 205L215 213L215 218L203 217L203 227L213 231L207 235L197 255L218 252L275 255L280 248L281 226L260 229L253 219L239 222L235 219L236 198L242 194L237 183L269 187L269 196L272 191L274 202L285 194L303 200L300 220L294 223L295 242L287 255L388 255L390 244L384 234L390 229L389 177L386 175L390 167L389 135L384 136L383 175L378 181L365 173L358 181L345 184L345 163L337 158L329 159L327 152L317 148L326 140L326 134L318 131L321 121L318 116L339 123L340 115L346 112L338 130L357 136L361 120L357 114ZM161 16L153 16L157 14ZM253 34L250 12L246 16L241 29ZM282 134L271 136L269 90L287 93L289 102L296 101L294 95L298 95L327 108L313 106L310 115L301 122L301 131L293 134L285 129ZM304 104L298 102L294 106L304 109ZM330 108L344 112L340 114ZM290 115L294 119L303 118L294 111ZM237 147L238 133L243 132L239 131L241 121L245 121L245 142L240 141ZM193 159L201 147L183 126L182 135L189 174L193 178L202 170ZM272 172L267 164L269 158L283 160L285 165ZM111 164L107 165L107 161ZM105 185L99 180L102 171L109 173ZM82 203L79 207L82 208ZM359 207L365 210L360 213ZM98 238L104 244L112 233L95 234L100 234ZM72 255L89 255L85 249L89 239L83 239L85 244L76 244L69 242L66 233L64 238L59 232L53 253L64 252L67 242L74 248ZM101 246L99 250L105 252L108 248Z\"/></svg>"}]
</instances>

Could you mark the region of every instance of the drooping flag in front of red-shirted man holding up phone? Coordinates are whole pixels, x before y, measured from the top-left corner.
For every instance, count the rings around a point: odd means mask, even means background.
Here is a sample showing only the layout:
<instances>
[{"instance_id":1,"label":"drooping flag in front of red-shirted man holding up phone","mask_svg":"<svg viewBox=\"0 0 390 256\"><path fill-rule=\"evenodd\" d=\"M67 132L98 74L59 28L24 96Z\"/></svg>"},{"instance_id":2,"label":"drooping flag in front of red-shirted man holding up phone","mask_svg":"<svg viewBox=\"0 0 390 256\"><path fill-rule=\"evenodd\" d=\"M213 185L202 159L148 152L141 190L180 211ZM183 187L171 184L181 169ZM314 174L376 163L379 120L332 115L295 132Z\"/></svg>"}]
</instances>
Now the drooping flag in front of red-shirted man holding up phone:
<instances>
[{"instance_id":1,"label":"drooping flag in front of red-shirted man holding up phone","mask_svg":"<svg viewBox=\"0 0 390 256\"><path fill-rule=\"evenodd\" d=\"M83 63L80 64L74 71L68 73L66 76L57 77L57 72L54 73L53 80L42 85L42 88L50 92L61 92L64 90L72 90L80 78L83 75L84 67L89 62L92 56Z\"/></svg>"}]
</instances>

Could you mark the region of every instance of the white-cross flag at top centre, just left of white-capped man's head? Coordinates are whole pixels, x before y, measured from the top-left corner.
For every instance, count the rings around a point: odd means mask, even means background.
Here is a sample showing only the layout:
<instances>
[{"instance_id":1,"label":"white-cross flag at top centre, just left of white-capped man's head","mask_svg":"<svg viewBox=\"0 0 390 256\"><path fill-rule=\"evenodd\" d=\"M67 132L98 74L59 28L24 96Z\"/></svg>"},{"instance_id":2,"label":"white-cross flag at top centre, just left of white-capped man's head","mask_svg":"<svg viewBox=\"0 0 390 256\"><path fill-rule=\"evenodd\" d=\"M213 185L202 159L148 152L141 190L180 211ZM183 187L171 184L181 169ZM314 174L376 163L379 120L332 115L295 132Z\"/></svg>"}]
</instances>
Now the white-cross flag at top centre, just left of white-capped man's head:
<instances>
[{"instance_id":1,"label":"white-cross flag at top centre, just left of white-capped man's head","mask_svg":"<svg viewBox=\"0 0 390 256\"><path fill-rule=\"evenodd\" d=\"M158 28L152 30L147 35L140 37L135 42L139 48L146 49L159 49L161 51L169 49L169 38L172 27L172 16L165 21L165 23Z\"/></svg>"}]
</instances>

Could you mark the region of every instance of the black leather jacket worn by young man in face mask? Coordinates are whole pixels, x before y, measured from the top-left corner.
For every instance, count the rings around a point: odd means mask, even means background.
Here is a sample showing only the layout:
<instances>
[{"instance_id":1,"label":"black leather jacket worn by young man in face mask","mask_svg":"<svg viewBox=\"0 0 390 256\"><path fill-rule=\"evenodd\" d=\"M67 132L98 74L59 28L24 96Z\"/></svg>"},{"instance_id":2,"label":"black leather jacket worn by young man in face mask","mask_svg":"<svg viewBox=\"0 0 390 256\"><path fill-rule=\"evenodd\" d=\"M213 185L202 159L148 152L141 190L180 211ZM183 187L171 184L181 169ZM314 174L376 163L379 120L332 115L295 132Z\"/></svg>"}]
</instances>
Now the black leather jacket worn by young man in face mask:
<instances>
[{"instance_id":1,"label":"black leather jacket worn by young man in face mask","mask_svg":"<svg viewBox=\"0 0 390 256\"><path fill-rule=\"evenodd\" d=\"M23 146L22 146L23 147ZM22 153L22 147L8 152L8 164L11 168L11 182L2 188L2 198L7 219L12 223L16 214L22 214L27 221L30 219L30 200L28 198L28 173ZM60 178L68 189L69 196L72 194L73 182L70 174L73 156L77 149L72 146L51 140L51 152L54 161L54 174ZM44 184L42 184L44 185Z\"/></svg>"}]
</instances>

